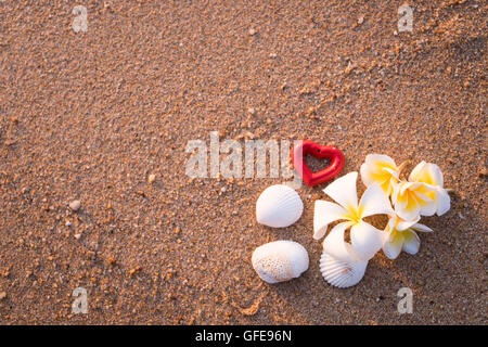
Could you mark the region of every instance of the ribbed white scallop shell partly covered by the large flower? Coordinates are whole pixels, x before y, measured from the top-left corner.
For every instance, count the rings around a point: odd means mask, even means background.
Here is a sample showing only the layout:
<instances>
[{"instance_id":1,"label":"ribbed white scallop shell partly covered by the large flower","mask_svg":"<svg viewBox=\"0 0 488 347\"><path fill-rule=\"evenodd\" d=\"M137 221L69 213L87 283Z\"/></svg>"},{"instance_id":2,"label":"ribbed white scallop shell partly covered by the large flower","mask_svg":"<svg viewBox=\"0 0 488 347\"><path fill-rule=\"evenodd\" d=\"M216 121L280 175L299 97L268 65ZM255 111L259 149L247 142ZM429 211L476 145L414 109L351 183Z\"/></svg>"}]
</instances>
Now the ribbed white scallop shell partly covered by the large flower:
<instances>
[{"instance_id":1,"label":"ribbed white scallop shell partly covered by the large flower","mask_svg":"<svg viewBox=\"0 0 488 347\"><path fill-rule=\"evenodd\" d=\"M342 261L330 256L325 252L320 258L320 272L330 284L339 288L356 285L364 275L367 261Z\"/></svg>"}]
</instances>

